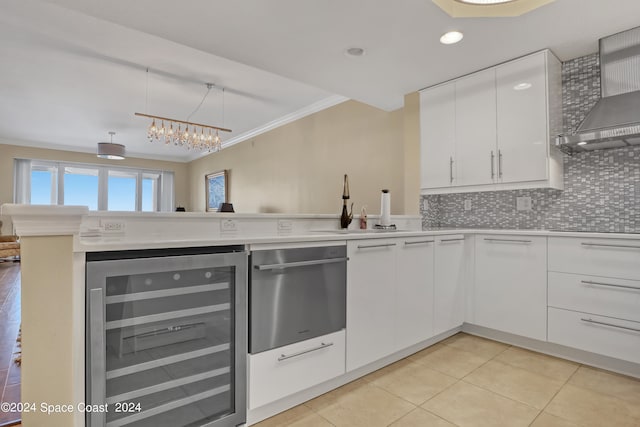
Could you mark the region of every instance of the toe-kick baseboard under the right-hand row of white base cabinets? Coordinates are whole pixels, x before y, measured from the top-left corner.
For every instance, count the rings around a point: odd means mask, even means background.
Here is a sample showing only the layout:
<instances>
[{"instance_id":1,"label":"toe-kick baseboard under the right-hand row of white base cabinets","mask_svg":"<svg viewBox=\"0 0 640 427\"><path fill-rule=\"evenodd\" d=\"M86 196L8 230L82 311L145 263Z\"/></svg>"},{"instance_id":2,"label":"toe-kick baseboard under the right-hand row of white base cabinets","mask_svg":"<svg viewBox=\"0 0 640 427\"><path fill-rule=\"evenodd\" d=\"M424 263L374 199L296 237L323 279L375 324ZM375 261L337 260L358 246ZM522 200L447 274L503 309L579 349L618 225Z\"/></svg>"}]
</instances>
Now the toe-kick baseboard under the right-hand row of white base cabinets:
<instances>
[{"instance_id":1,"label":"toe-kick baseboard under the right-hand row of white base cabinets","mask_svg":"<svg viewBox=\"0 0 640 427\"><path fill-rule=\"evenodd\" d=\"M640 364L628 362L626 360L615 359L613 357L578 350L572 347L565 347L560 344L534 340L532 338L513 335L507 332L501 332L495 329L485 328L483 326L472 325L469 323L462 325L462 332L526 348L527 350L548 354L549 356L560 357L562 359L571 360L584 365L606 369L608 371L617 372L630 377L640 378Z\"/></svg>"}]
</instances>

